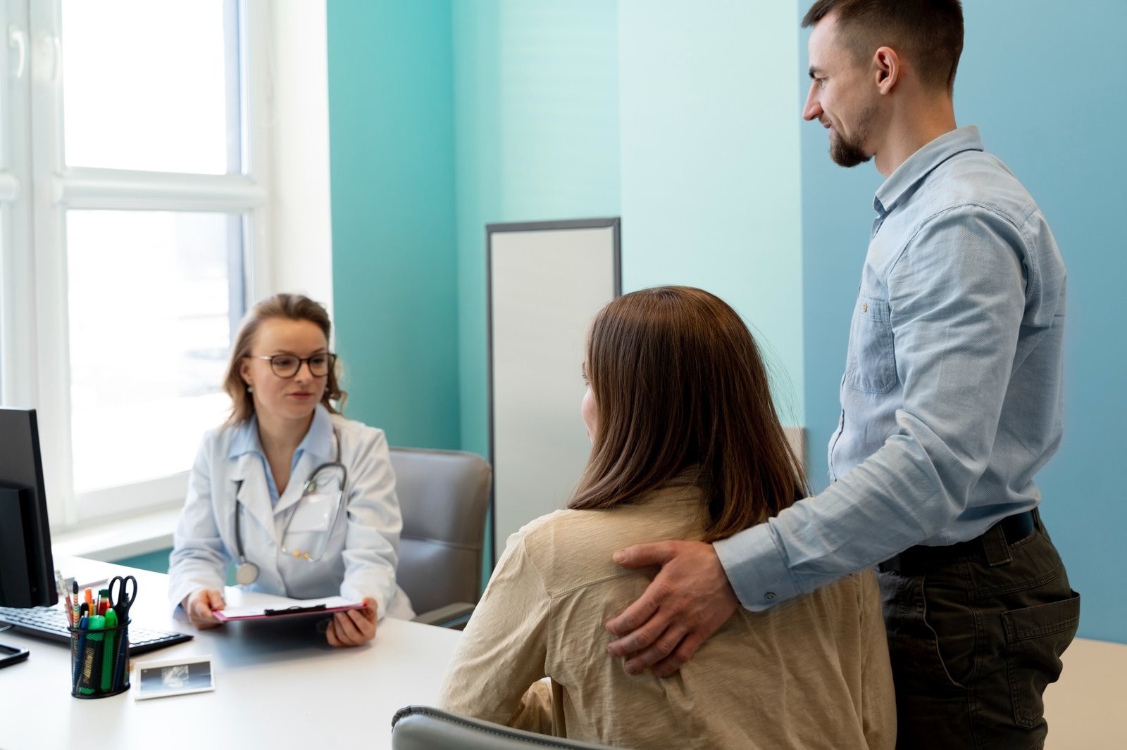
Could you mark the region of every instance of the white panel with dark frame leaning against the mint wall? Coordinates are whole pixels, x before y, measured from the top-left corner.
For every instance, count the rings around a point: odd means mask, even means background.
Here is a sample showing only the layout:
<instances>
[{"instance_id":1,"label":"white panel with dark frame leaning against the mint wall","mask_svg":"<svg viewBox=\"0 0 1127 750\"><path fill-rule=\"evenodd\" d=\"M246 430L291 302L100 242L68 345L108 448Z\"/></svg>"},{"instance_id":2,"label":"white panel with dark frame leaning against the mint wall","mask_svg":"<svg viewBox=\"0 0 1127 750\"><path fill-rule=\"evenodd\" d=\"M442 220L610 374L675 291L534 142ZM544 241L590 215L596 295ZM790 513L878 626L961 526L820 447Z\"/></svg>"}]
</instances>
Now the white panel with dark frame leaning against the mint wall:
<instances>
[{"instance_id":1,"label":"white panel with dark frame leaning against the mint wall","mask_svg":"<svg viewBox=\"0 0 1127 750\"><path fill-rule=\"evenodd\" d=\"M494 559L564 508L591 455L579 416L587 329L622 293L618 218L489 224Z\"/></svg>"}]
</instances>

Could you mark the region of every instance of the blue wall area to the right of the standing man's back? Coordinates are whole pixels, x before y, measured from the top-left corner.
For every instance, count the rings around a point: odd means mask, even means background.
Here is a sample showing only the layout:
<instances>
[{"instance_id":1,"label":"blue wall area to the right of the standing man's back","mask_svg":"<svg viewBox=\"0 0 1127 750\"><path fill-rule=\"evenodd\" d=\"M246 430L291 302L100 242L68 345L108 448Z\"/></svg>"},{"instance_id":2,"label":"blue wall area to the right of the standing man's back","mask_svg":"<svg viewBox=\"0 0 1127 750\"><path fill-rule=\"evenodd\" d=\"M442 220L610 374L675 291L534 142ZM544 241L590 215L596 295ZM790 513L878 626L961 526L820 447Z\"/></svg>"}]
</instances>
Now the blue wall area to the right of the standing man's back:
<instances>
[{"instance_id":1,"label":"blue wall area to the right of the standing man's back","mask_svg":"<svg viewBox=\"0 0 1127 750\"><path fill-rule=\"evenodd\" d=\"M1068 268L1065 437L1039 476L1042 514L1083 597L1081 634L1127 643L1127 3L994 0L967 25L956 111L1037 198Z\"/></svg>"}]
</instances>

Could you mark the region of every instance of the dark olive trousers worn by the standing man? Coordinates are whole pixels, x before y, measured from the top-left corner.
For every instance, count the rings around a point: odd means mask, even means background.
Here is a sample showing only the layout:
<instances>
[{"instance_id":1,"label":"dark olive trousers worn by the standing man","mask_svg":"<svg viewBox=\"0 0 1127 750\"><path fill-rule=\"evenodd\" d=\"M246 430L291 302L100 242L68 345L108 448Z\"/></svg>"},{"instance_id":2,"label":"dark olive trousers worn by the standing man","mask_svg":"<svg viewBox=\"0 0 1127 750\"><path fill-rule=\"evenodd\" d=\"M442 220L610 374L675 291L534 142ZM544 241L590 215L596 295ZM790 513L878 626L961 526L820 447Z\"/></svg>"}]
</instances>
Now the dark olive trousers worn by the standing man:
<instances>
[{"instance_id":1,"label":"dark olive trousers worn by the standing man","mask_svg":"<svg viewBox=\"0 0 1127 750\"><path fill-rule=\"evenodd\" d=\"M1000 525L878 568L898 749L1044 747L1041 696L1076 634L1080 595L1032 518L1024 538L1008 539Z\"/></svg>"}]
</instances>

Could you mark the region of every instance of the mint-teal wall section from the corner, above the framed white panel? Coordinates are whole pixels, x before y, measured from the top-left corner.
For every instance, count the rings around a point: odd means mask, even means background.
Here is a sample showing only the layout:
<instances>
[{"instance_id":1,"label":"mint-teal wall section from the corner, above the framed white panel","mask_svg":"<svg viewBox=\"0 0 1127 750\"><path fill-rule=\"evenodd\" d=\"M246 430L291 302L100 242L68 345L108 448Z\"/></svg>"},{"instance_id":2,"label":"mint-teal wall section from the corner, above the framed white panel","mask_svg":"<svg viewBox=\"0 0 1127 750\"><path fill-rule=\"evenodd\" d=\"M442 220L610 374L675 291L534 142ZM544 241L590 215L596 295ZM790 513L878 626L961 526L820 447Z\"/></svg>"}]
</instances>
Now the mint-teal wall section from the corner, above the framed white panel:
<instances>
[{"instance_id":1,"label":"mint-teal wall section from the corner, above the framed white panel","mask_svg":"<svg viewBox=\"0 0 1127 750\"><path fill-rule=\"evenodd\" d=\"M461 439L487 454L485 227L619 215L616 9L465 0L452 28Z\"/></svg>"}]
</instances>

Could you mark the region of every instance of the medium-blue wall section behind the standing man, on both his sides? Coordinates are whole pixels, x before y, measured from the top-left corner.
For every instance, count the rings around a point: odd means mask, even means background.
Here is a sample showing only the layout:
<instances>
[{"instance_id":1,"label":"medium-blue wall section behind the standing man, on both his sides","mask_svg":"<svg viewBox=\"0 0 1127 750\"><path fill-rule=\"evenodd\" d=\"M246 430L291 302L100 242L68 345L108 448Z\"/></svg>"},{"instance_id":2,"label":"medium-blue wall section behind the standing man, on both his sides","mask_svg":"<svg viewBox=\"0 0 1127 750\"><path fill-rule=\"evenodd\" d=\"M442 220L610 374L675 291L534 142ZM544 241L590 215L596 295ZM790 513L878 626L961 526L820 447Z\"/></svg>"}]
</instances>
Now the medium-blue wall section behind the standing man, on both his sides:
<instances>
[{"instance_id":1,"label":"medium-blue wall section behind the standing man, on both his sides","mask_svg":"<svg viewBox=\"0 0 1127 750\"><path fill-rule=\"evenodd\" d=\"M991 0L965 3L965 14L956 115L960 124L979 126L986 148L1037 198L1068 267L1065 439L1038 475L1042 517L1083 596L1081 635L1127 642L1120 554L1127 492L1115 471L1127 423L1127 242L1120 218L1127 157L1116 133L1127 122L1117 74L1127 3ZM806 34L800 38L805 50ZM804 88L806 66L802 54ZM806 404L822 484L848 311L879 184L871 166L833 166L823 128L805 126Z\"/></svg>"}]
</instances>

